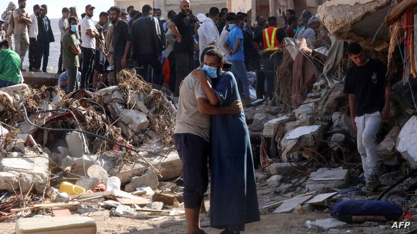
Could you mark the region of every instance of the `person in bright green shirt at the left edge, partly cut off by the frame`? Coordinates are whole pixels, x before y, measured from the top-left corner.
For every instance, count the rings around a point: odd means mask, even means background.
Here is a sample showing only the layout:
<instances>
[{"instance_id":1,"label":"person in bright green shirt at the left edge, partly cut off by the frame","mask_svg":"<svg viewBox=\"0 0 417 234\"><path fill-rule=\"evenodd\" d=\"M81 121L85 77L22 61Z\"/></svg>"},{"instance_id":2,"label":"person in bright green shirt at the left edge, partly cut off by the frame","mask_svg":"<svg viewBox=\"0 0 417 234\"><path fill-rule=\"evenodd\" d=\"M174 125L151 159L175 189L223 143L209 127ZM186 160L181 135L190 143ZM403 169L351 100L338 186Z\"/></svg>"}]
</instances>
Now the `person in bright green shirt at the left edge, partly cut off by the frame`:
<instances>
[{"instance_id":1,"label":"person in bright green shirt at the left edge, partly cut off by the frame","mask_svg":"<svg viewBox=\"0 0 417 234\"><path fill-rule=\"evenodd\" d=\"M9 49L9 42L0 43L0 88L17 85L20 81L20 57Z\"/></svg>"}]
</instances>

